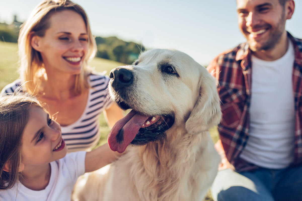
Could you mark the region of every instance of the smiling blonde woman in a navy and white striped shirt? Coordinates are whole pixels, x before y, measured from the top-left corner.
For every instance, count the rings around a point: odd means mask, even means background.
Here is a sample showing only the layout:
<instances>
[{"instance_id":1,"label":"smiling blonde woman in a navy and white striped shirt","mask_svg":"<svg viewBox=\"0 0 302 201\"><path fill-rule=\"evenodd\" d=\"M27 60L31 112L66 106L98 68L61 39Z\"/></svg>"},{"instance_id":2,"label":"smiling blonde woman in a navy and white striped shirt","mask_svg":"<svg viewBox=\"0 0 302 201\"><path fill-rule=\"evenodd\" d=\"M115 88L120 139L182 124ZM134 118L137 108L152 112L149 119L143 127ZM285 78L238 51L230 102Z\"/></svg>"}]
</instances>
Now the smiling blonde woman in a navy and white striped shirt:
<instances>
[{"instance_id":1,"label":"smiling blonde woman in a navy and white striped shirt","mask_svg":"<svg viewBox=\"0 0 302 201\"><path fill-rule=\"evenodd\" d=\"M99 114L110 127L123 112L108 98L109 78L87 65L96 52L84 9L69 0L44 0L22 25L18 39L20 79L2 93L28 93L62 126L69 152L99 140Z\"/></svg>"}]
</instances>

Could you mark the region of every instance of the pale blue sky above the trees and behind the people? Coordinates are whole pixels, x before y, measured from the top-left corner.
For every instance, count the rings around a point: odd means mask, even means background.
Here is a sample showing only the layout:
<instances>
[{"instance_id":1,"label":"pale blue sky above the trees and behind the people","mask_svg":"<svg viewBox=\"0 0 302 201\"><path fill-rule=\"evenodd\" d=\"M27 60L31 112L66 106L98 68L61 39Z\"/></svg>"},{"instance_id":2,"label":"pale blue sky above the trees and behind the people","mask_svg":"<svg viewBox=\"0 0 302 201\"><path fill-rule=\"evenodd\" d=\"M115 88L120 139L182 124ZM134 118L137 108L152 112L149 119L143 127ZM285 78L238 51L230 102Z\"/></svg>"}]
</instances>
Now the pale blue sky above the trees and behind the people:
<instances>
[{"instance_id":1,"label":"pale blue sky above the trees and behind the people","mask_svg":"<svg viewBox=\"0 0 302 201\"><path fill-rule=\"evenodd\" d=\"M24 21L40 0L0 0L0 22ZM207 65L245 38L237 25L236 0L74 0L95 36L117 36L146 48L177 49ZM302 38L302 0L295 0L286 30Z\"/></svg>"}]
</instances>

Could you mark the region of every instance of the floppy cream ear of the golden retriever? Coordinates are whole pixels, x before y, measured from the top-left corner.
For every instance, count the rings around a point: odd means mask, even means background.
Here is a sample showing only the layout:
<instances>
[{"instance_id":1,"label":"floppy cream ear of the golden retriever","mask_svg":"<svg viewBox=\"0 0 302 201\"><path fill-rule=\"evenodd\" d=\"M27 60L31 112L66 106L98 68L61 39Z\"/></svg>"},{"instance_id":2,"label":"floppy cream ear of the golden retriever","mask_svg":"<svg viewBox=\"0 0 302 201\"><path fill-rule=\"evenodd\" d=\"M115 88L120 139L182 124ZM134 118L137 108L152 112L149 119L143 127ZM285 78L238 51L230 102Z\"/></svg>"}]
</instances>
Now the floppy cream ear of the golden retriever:
<instances>
[{"instance_id":1,"label":"floppy cream ear of the golden retriever","mask_svg":"<svg viewBox=\"0 0 302 201\"><path fill-rule=\"evenodd\" d=\"M221 120L220 99L217 93L215 78L208 72L199 80L199 97L185 127L188 133L201 133L209 130Z\"/></svg>"}]
</instances>

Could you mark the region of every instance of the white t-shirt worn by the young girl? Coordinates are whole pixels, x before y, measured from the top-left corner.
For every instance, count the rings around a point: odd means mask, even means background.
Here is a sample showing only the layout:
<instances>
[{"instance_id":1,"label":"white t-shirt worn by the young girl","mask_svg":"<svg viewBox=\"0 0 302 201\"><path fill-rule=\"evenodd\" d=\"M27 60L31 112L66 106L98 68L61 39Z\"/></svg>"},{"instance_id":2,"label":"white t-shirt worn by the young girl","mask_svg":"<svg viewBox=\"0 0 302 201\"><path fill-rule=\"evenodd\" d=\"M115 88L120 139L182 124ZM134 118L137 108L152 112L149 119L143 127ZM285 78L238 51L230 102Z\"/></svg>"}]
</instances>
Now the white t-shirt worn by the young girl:
<instances>
[{"instance_id":1,"label":"white t-shirt worn by the young girl","mask_svg":"<svg viewBox=\"0 0 302 201\"><path fill-rule=\"evenodd\" d=\"M50 163L51 174L47 187L31 190L18 182L10 189L0 190L2 201L70 201L77 178L85 173L86 152L73 152Z\"/></svg>"}]
</instances>

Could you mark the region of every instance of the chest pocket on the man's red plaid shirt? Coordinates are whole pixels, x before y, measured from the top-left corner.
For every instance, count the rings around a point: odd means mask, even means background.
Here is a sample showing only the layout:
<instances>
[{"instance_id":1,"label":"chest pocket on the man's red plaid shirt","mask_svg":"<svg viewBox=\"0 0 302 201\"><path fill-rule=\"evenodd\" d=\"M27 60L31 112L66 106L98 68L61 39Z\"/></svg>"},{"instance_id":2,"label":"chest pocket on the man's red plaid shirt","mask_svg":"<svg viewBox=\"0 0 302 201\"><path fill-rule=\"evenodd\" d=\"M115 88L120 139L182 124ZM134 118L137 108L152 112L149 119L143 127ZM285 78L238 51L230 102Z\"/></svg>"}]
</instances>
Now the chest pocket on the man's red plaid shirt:
<instances>
[{"instance_id":1,"label":"chest pocket on the man's red plaid shirt","mask_svg":"<svg viewBox=\"0 0 302 201\"><path fill-rule=\"evenodd\" d=\"M220 124L228 128L237 127L243 114L246 94L243 89L234 89L223 86L220 87L219 96L222 111Z\"/></svg>"}]
</instances>

